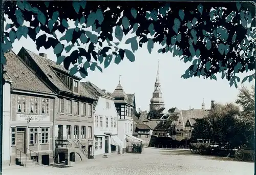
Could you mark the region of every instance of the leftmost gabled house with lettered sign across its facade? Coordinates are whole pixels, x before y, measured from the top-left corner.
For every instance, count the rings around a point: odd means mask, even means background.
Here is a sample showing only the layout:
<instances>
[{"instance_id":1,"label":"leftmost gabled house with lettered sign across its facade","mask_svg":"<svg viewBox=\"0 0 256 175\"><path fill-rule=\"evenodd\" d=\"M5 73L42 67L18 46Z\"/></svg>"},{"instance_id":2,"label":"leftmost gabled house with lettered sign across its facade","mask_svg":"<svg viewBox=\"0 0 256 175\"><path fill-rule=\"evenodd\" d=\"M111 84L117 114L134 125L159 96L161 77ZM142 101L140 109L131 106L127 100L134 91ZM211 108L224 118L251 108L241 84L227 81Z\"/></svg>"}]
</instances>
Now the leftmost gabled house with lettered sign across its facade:
<instances>
[{"instance_id":1,"label":"leftmost gabled house with lettered sign across its facade","mask_svg":"<svg viewBox=\"0 0 256 175\"><path fill-rule=\"evenodd\" d=\"M13 51L5 57L3 163L49 165L57 94Z\"/></svg>"}]
</instances>

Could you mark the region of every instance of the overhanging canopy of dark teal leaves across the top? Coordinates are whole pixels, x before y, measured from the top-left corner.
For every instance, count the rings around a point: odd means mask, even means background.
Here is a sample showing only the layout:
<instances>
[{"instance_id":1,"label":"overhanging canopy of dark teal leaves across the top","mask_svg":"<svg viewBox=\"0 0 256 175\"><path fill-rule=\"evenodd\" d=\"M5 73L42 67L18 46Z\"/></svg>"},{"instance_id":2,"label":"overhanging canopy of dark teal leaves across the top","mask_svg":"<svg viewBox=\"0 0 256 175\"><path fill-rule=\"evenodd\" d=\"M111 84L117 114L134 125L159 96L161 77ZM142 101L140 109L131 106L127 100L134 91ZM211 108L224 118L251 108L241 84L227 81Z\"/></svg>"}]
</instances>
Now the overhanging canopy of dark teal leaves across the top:
<instances>
[{"instance_id":1,"label":"overhanging canopy of dark teal leaves across the top","mask_svg":"<svg viewBox=\"0 0 256 175\"><path fill-rule=\"evenodd\" d=\"M139 47L146 46L151 53L156 43L162 46L159 53L191 62L183 78L216 79L222 73L230 86L237 87L236 74L255 69L255 6L251 3L5 1L4 13L13 23L6 25L3 52L11 49L15 39L29 36L38 50L52 47L57 63L63 62L66 69L73 64L70 73L79 71L82 77L89 68L102 72L101 67L107 68L112 60L119 64L126 57L133 62ZM70 20L75 28L69 26ZM45 33L39 35L40 31ZM131 38L124 42L131 50L119 46L127 34ZM253 78L254 74L243 81Z\"/></svg>"}]
</instances>

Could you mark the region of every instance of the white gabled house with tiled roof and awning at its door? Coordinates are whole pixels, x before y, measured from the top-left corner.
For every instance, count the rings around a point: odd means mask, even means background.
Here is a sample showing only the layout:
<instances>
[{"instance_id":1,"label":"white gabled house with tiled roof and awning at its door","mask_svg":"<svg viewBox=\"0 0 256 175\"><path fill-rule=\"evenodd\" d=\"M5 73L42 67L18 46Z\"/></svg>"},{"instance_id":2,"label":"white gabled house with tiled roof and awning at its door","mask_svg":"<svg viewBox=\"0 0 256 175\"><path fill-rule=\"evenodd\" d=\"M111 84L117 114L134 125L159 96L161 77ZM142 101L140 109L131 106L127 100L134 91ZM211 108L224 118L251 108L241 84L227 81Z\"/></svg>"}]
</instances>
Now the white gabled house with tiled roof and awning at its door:
<instances>
[{"instance_id":1,"label":"white gabled house with tiled roof and awning at its door","mask_svg":"<svg viewBox=\"0 0 256 175\"><path fill-rule=\"evenodd\" d=\"M117 136L118 114L114 98L106 94L92 82L81 82L84 88L96 99L94 114L94 155L108 155L122 151L123 143Z\"/></svg>"}]
</instances>

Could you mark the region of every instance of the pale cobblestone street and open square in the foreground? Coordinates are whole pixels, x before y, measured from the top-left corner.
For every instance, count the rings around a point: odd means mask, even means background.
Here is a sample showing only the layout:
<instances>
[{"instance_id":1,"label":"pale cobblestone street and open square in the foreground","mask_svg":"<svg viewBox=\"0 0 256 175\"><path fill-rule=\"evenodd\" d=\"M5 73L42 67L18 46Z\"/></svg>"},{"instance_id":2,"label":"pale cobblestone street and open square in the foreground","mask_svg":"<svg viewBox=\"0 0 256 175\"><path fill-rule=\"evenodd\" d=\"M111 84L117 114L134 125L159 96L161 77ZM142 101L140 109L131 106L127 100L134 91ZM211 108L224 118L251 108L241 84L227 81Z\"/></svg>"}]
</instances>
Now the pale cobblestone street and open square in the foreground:
<instances>
[{"instance_id":1,"label":"pale cobblestone street and open square in the foreground","mask_svg":"<svg viewBox=\"0 0 256 175\"><path fill-rule=\"evenodd\" d=\"M124 154L110 158L98 158L83 163L74 163L71 168L47 166L4 169L4 175L72 175L72 174L253 174L254 164L248 162L216 160L214 157L191 154L188 151L144 148L143 154Z\"/></svg>"}]
</instances>

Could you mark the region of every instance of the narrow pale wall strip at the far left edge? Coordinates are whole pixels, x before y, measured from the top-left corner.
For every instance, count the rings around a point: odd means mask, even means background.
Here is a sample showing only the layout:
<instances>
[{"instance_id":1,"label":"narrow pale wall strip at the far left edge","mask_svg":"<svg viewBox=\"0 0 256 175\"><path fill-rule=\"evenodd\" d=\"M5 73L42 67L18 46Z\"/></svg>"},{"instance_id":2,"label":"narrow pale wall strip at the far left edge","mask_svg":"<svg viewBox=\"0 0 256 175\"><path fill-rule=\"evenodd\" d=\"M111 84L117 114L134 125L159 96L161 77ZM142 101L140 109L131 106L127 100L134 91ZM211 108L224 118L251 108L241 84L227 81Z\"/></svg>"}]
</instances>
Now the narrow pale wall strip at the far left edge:
<instances>
[{"instance_id":1,"label":"narrow pale wall strip at the far left edge","mask_svg":"<svg viewBox=\"0 0 256 175\"><path fill-rule=\"evenodd\" d=\"M11 86L5 82L3 86L3 147L2 147L2 163L9 165L10 163L10 108L11 108Z\"/></svg>"}]
</instances>

